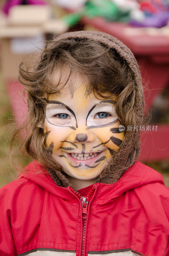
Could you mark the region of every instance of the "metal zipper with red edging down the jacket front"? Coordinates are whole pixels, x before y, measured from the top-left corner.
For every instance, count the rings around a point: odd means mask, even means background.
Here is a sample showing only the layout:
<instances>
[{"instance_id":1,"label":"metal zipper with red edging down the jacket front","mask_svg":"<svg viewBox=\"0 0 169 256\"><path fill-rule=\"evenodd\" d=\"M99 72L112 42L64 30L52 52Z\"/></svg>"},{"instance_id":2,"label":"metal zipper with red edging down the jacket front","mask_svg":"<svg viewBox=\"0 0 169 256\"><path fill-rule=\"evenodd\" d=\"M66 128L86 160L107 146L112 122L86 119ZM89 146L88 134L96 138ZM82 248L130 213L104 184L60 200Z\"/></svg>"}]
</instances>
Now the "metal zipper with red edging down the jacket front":
<instances>
[{"instance_id":1,"label":"metal zipper with red edging down the jacket front","mask_svg":"<svg viewBox=\"0 0 169 256\"><path fill-rule=\"evenodd\" d=\"M88 203L90 200L90 197L92 193L94 192L95 188L92 188L87 196L82 196L79 192L74 190L73 188L70 188L72 192L77 195L80 198L81 204L82 204L82 249L81 249L81 256L84 256L84 244L85 244L85 228L86 228L86 220L87 220L87 209L88 209Z\"/></svg>"}]
</instances>

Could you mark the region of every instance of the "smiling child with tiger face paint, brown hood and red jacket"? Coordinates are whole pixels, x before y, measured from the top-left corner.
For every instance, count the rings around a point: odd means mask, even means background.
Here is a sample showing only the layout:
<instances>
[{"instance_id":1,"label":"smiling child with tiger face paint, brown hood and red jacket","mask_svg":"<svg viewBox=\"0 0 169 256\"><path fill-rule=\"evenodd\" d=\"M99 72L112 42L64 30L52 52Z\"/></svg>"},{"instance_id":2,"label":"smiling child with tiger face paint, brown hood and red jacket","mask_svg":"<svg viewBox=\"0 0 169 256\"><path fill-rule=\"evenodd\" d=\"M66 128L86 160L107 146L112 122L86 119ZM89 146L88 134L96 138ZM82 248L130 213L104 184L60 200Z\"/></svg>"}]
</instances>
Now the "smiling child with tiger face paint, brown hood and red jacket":
<instances>
[{"instance_id":1,"label":"smiling child with tiger face paint, brown hood and red jacket","mask_svg":"<svg viewBox=\"0 0 169 256\"><path fill-rule=\"evenodd\" d=\"M19 73L28 117L15 137L34 161L0 190L0 255L169 255L168 188L137 161L144 96L132 52L70 32Z\"/></svg>"}]
</instances>

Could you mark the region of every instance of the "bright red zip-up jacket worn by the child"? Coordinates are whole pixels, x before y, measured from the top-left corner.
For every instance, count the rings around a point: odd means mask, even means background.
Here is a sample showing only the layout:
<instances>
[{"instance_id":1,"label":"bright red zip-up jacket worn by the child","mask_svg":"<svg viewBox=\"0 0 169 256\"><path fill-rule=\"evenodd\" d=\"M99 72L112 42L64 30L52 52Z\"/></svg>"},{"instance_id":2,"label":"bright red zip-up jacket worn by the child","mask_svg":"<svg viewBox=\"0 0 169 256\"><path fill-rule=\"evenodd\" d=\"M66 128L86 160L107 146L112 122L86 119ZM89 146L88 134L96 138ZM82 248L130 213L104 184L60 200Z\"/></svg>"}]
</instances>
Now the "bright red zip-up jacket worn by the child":
<instances>
[{"instance_id":1,"label":"bright red zip-up jacket worn by the child","mask_svg":"<svg viewBox=\"0 0 169 256\"><path fill-rule=\"evenodd\" d=\"M169 255L169 190L155 170L136 161L118 182L79 194L37 162L27 168L0 189L1 256Z\"/></svg>"}]
</instances>

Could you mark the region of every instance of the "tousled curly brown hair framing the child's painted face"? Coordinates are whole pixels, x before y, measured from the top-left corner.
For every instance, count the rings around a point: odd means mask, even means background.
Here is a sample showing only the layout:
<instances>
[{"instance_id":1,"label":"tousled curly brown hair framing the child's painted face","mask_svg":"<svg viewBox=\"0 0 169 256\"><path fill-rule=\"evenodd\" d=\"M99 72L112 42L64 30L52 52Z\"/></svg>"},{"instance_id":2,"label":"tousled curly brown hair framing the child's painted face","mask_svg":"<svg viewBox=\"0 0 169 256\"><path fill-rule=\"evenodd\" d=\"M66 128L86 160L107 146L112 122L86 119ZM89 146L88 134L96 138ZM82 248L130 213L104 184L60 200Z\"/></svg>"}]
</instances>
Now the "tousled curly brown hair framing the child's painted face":
<instances>
[{"instance_id":1,"label":"tousled curly brown hair framing the child's painted face","mask_svg":"<svg viewBox=\"0 0 169 256\"><path fill-rule=\"evenodd\" d=\"M61 84L64 67L70 72L65 83ZM57 85L52 81L54 72L59 72L60 79ZM139 126L143 122L143 86L141 82L139 84L135 81L132 68L115 49L86 38L49 41L34 66L30 66L27 61L22 61L19 65L18 80L25 86L28 95L28 116L26 122L16 129L11 141L12 145L16 138L21 138L20 149L26 149L29 156L38 160L48 170L62 172L61 166L56 164L51 156L50 146L47 148L45 144L47 137L43 130L47 104L45 99L48 95L57 94L62 90L72 72L77 72L85 80L87 79L86 94L94 93L97 98L106 99L112 94L117 96L116 112L122 125ZM131 140L134 143L130 145L128 152L123 152L127 156L131 147L136 150L138 146L139 130L133 135L125 129L126 136L128 138L135 136L135 140ZM114 155L112 159L113 157ZM131 159L128 165L135 160L135 158ZM109 168L111 169L111 162Z\"/></svg>"}]
</instances>

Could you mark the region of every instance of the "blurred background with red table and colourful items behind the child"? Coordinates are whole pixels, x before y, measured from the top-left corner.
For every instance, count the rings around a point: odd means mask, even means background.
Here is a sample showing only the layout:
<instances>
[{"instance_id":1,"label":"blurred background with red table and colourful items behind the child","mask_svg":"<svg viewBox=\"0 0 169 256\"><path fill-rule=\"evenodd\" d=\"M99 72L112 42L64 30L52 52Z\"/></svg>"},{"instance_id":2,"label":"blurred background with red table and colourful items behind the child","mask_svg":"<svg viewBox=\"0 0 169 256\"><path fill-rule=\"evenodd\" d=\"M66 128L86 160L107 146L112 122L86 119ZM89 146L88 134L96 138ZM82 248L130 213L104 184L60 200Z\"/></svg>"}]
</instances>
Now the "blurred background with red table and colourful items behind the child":
<instances>
[{"instance_id":1,"label":"blurred background with red table and colourful items behind the child","mask_svg":"<svg viewBox=\"0 0 169 256\"><path fill-rule=\"evenodd\" d=\"M9 161L12 129L27 113L18 65L74 30L106 32L134 53L152 116L141 128L139 161L169 187L169 0L0 0L0 187L18 176ZM14 161L24 168L30 159L19 153Z\"/></svg>"}]
</instances>

